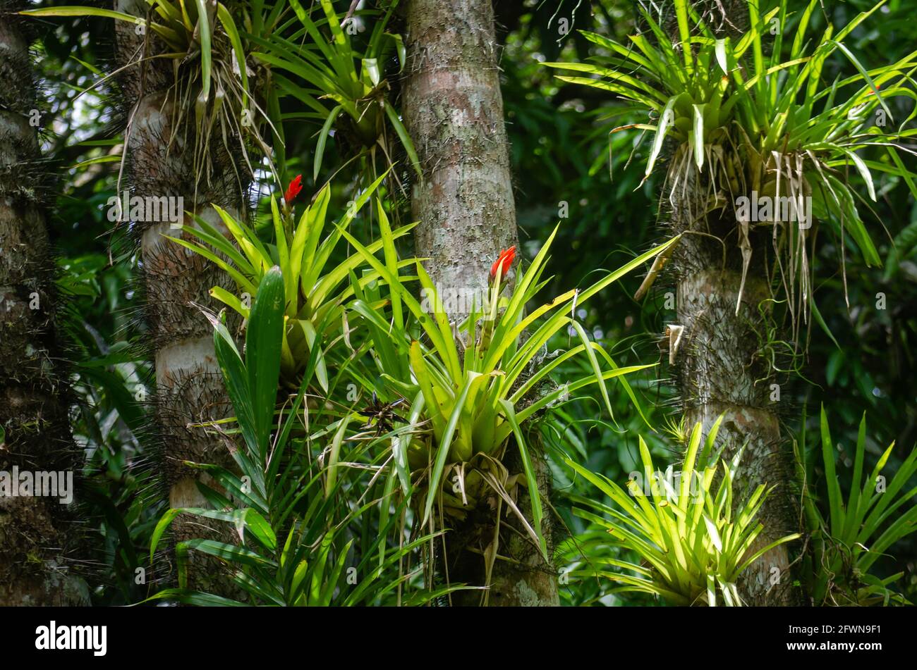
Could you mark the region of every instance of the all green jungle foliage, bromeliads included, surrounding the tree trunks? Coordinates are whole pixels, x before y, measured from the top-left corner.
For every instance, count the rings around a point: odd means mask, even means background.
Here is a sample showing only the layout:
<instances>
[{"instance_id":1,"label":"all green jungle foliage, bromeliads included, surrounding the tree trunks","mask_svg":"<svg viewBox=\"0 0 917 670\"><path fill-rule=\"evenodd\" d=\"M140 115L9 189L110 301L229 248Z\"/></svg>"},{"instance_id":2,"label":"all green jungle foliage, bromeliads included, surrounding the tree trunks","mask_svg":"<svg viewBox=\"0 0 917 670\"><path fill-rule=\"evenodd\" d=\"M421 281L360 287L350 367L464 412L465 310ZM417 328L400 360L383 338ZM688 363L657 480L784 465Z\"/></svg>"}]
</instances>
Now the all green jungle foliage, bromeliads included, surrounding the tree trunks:
<instances>
[{"instance_id":1,"label":"all green jungle foliage, bromeliads included, surrounding the tree trunks","mask_svg":"<svg viewBox=\"0 0 917 670\"><path fill-rule=\"evenodd\" d=\"M146 2L146 18L53 0L25 12L45 28L37 62L58 117L43 149L61 173L51 225L95 603L444 604L481 589L450 580L442 553L483 514L498 529L486 574L512 520L565 604L743 604L736 585L770 548L755 545L769 487L738 499L739 459L716 427L679 421L658 341L668 278L632 298L679 243L657 226L663 182L700 173L708 210L752 190L814 201L812 229L760 223L791 323L766 345L785 337L794 356L787 578L816 605L917 595L917 26L904 3L749 1L732 37L687 0L661 15L495 3L522 242L450 322L410 243L403 3ZM206 475L208 508L161 494L138 251L104 215L124 140L101 38L113 21L161 40L182 122L206 131L196 159L241 137L252 180L251 211L218 212L228 234L193 217L171 237L235 286L212 288L220 309L189 306L213 328L233 415L204 428L235 467L186 464ZM233 541L172 543L179 515ZM238 598L188 588L194 554L225 565Z\"/></svg>"}]
</instances>

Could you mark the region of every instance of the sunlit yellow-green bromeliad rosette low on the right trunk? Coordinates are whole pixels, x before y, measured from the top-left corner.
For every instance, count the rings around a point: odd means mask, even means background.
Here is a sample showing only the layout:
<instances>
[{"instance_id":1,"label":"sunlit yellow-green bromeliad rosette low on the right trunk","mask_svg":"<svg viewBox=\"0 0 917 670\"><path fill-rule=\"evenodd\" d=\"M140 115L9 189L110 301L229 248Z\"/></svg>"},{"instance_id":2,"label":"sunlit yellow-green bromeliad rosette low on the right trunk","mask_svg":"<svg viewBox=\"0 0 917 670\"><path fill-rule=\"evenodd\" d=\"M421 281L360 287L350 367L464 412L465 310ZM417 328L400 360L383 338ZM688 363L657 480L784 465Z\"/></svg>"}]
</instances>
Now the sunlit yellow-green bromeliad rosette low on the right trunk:
<instances>
[{"instance_id":1,"label":"sunlit yellow-green bromeliad rosette low on the right trunk","mask_svg":"<svg viewBox=\"0 0 917 670\"><path fill-rule=\"evenodd\" d=\"M645 486L637 479L630 479L622 487L568 461L573 470L591 481L613 503L607 505L573 496L573 501L580 505L573 513L606 529L614 538L611 546L640 557L640 562L635 563L617 557L592 556L591 562L599 562L602 567L571 574L609 578L621 585L611 589L612 593L649 593L672 605L743 604L736 588L739 576L758 557L800 535L786 535L768 546L753 548L764 530L756 517L768 491L761 484L747 501L734 501L733 481L742 450L729 461L720 459L721 455L714 452L713 442L721 421L722 417L705 440L701 425L693 428L679 478L674 483L657 471L643 438L640 438L640 459ZM717 478L718 465L722 465L723 471Z\"/></svg>"}]
</instances>

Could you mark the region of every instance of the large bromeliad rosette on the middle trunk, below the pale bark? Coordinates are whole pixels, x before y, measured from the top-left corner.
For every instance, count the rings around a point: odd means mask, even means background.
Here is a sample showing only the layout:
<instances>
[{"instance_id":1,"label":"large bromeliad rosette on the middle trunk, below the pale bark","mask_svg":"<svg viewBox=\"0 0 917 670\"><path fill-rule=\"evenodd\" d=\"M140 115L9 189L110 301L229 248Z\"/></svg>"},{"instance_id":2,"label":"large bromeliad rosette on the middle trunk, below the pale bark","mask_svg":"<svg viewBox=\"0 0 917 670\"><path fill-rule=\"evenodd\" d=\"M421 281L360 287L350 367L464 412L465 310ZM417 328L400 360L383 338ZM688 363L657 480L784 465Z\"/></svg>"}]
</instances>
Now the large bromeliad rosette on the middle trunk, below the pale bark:
<instances>
[{"instance_id":1,"label":"large bromeliad rosette on the middle trunk, below the pale bark","mask_svg":"<svg viewBox=\"0 0 917 670\"><path fill-rule=\"evenodd\" d=\"M382 238L386 239L388 222L383 215L379 218ZM474 306L470 316L454 326L419 260L415 262L416 278L425 304L414 297L407 284L409 277L399 275L393 244L383 246L384 260L380 260L349 232L343 232L389 291L388 296L382 296L380 286L376 287L379 292L370 292L354 284L355 299L349 308L370 330L386 394L407 400L403 418L408 426L392 434L392 460L405 496L410 497L414 484L420 484L417 507L424 526L431 515L433 519L442 518L444 513L460 516L481 492L491 490L514 510L532 541L546 552L541 533L543 505L526 438L528 424L590 384L598 384L611 412L605 384L610 379L621 381L636 404L624 377L652 365L617 366L571 314L576 306L664 252L677 238L641 254L585 289L571 289L538 304L535 298L547 284L543 273L556 233L557 229L507 295L502 290L503 264L497 264L485 303ZM354 283L356 277L351 281ZM577 334L580 343L533 372L532 362L539 359L547 342L567 329ZM539 383L574 357L589 362L590 375L533 397ZM522 478L514 478L517 473L503 466L503 453L510 444L519 450L525 470L519 473ZM444 487L446 481L453 483ZM519 513L508 492L516 482L528 491L530 520ZM433 515L435 505L439 513Z\"/></svg>"}]
</instances>

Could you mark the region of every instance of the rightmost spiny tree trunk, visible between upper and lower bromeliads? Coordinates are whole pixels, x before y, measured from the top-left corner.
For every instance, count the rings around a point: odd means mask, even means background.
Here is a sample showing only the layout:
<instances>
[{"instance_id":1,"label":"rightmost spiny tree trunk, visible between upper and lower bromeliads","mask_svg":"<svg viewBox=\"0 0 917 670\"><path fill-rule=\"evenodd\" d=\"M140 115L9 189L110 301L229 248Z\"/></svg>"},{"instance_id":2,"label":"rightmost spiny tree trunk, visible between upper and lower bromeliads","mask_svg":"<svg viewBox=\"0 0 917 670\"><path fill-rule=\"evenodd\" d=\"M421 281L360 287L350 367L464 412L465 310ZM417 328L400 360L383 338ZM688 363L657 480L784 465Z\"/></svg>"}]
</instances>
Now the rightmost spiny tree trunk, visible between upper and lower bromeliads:
<instances>
[{"instance_id":1,"label":"rightmost spiny tree trunk, visible between upper and lower bromeliads","mask_svg":"<svg viewBox=\"0 0 917 670\"><path fill-rule=\"evenodd\" d=\"M745 2L701 0L695 5L724 36L747 26ZM668 30L675 34L674 16ZM749 224L746 253L751 256L743 287L743 242L734 203L710 211L704 178L666 192L672 228L685 233L671 263L677 275L678 325L684 328L675 357L677 379L689 428L701 423L706 433L723 415L717 442L726 445L724 458L744 445L735 501L747 500L759 484L776 487L758 513L764 530L752 547L757 551L799 530L792 452L780 438L780 387L761 352L762 342L773 337L768 333L771 229ZM751 605L801 604L792 581L788 547L781 545L746 570L739 591Z\"/></svg>"}]
</instances>

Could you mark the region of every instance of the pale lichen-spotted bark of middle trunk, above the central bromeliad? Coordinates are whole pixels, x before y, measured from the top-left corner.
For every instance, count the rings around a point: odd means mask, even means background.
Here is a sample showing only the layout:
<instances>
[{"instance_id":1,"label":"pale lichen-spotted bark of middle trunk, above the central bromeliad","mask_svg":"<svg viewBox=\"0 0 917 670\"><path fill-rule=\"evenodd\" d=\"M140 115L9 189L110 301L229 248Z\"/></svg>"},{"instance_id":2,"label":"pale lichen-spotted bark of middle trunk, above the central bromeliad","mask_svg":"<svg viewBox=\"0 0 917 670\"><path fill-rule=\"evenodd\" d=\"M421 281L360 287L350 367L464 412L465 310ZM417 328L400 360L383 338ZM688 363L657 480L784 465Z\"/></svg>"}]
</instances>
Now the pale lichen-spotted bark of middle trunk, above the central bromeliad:
<instances>
[{"instance_id":1,"label":"pale lichen-spotted bark of middle trunk, above the central bromeliad","mask_svg":"<svg viewBox=\"0 0 917 670\"><path fill-rule=\"evenodd\" d=\"M417 252L444 291L486 289L518 243L490 0L412 0L407 48L404 122L424 173L411 200Z\"/></svg>"}]
</instances>

